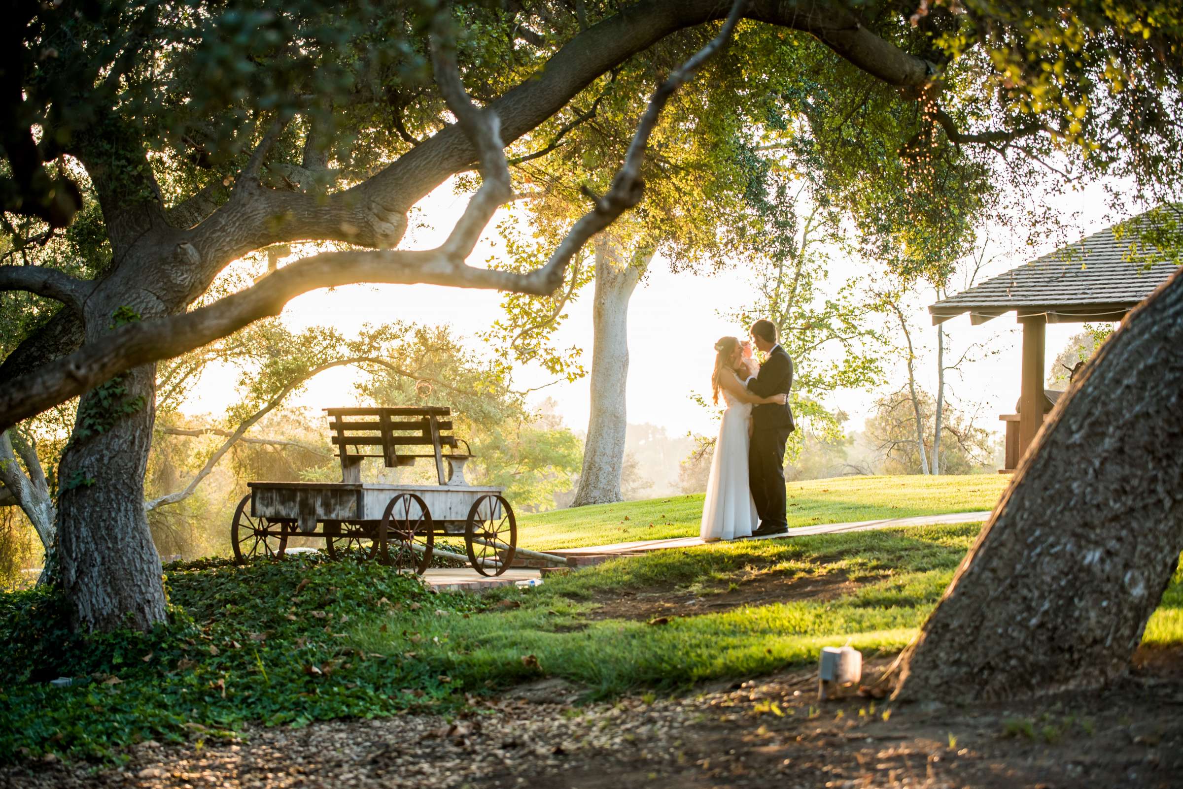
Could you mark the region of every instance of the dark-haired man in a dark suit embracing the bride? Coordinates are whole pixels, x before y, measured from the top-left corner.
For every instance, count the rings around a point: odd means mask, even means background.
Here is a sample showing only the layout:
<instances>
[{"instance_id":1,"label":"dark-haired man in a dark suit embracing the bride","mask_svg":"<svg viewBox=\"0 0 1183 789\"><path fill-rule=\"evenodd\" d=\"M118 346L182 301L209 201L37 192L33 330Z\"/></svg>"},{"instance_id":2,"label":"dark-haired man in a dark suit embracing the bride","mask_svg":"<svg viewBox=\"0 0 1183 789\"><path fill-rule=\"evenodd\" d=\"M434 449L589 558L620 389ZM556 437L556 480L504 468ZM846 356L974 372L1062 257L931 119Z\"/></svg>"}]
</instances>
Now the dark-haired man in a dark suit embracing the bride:
<instances>
[{"instance_id":1,"label":"dark-haired man in a dark suit embracing the bride","mask_svg":"<svg viewBox=\"0 0 1183 789\"><path fill-rule=\"evenodd\" d=\"M776 324L757 320L751 325L751 339L768 359L759 372L745 384L759 397L788 394L793 389L793 359L776 341ZM752 436L748 450L748 480L756 501L759 528L754 537L784 534L789 530L784 503L784 443L793 432L793 411L784 405L757 405L751 410Z\"/></svg>"}]
</instances>

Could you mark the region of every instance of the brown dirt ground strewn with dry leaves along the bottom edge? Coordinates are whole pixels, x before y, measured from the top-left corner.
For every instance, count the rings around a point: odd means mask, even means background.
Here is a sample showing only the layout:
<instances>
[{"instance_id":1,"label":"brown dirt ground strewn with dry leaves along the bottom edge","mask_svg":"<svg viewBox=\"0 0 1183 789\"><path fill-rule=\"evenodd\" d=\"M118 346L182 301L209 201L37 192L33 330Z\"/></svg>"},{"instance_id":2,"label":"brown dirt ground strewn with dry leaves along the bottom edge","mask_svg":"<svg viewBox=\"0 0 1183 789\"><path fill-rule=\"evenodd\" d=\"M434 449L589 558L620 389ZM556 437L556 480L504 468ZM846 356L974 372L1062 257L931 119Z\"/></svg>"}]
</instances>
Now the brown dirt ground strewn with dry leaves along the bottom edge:
<instances>
[{"instance_id":1,"label":"brown dirt ground strewn with dry leaves along the bottom edge","mask_svg":"<svg viewBox=\"0 0 1183 789\"><path fill-rule=\"evenodd\" d=\"M1143 656L1146 667L1105 695L972 709L819 706L801 672L648 704L530 702L577 690L548 680L454 722L402 715L149 743L119 768L38 763L0 771L0 785L1165 789L1183 783L1181 657Z\"/></svg>"}]
</instances>

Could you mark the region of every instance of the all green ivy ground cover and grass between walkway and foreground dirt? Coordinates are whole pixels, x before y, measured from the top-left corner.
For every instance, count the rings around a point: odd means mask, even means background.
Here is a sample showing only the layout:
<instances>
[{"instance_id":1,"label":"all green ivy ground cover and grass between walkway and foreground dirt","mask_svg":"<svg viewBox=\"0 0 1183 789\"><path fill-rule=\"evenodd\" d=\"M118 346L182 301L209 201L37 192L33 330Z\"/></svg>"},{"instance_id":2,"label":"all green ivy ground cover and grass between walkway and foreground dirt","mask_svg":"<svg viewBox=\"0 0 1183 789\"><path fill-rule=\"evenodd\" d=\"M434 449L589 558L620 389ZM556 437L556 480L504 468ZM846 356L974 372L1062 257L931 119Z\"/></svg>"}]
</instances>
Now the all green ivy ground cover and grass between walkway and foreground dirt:
<instances>
[{"instance_id":1,"label":"all green ivy ground cover and grass between walkway and foreground dirt","mask_svg":"<svg viewBox=\"0 0 1183 789\"><path fill-rule=\"evenodd\" d=\"M51 589L6 593L0 762L46 752L119 761L138 742L235 737L250 722L458 710L468 695L545 676L580 683L595 698L806 666L825 645L893 654L916 634L980 528L666 550L486 595L432 594L374 562L319 554L245 567L202 560L167 568L170 621L147 634L71 634ZM826 576L843 581L841 596L793 599L793 586L782 586ZM603 608L675 593L724 600L767 582L776 594L762 604L664 625L607 618ZM1183 570L1144 640L1183 644ZM58 689L47 682L54 677L76 682Z\"/></svg>"}]
</instances>

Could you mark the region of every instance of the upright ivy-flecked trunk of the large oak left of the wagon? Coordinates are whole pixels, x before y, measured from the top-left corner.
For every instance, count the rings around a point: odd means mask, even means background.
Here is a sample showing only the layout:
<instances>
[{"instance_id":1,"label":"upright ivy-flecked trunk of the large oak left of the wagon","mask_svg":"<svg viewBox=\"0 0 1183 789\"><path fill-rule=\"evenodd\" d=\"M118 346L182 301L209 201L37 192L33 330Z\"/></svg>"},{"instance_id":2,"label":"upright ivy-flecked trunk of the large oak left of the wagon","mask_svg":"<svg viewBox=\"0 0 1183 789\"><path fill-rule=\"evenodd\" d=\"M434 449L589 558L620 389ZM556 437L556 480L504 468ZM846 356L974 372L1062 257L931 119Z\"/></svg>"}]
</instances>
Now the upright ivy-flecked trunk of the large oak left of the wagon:
<instances>
[{"instance_id":1,"label":"upright ivy-flecked trunk of the large oak left of the wagon","mask_svg":"<svg viewBox=\"0 0 1183 789\"><path fill-rule=\"evenodd\" d=\"M155 382L155 365L146 365L83 396L58 467L58 572L80 630L147 630L164 619L143 504Z\"/></svg>"}]
</instances>

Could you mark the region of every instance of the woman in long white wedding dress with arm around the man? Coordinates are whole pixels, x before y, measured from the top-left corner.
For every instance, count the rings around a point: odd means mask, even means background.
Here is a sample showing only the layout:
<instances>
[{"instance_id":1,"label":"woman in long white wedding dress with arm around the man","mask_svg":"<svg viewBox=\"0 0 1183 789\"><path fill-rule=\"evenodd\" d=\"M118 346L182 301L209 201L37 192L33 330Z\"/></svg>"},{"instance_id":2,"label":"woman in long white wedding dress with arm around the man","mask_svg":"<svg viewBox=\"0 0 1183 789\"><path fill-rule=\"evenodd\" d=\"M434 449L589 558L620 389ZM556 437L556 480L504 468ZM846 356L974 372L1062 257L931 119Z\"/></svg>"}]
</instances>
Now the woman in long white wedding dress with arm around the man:
<instances>
[{"instance_id":1,"label":"woman in long white wedding dress with arm around the man","mask_svg":"<svg viewBox=\"0 0 1183 789\"><path fill-rule=\"evenodd\" d=\"M711 374L711 394L716 405L719 390L728 407L723 412L719 437L715 442L711 477L706 483L703 522L699 535L706 542L750 536L759 524L756 503L748 483L748 445L751 442L751 406L763 403L784 404L784 394L756 397L742 378L755 374L756 361L751 348L735 337L724 337L715 344L715 372Z\"/></svg>"}]
</instances>

